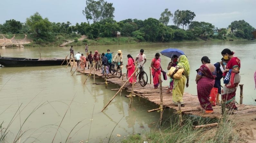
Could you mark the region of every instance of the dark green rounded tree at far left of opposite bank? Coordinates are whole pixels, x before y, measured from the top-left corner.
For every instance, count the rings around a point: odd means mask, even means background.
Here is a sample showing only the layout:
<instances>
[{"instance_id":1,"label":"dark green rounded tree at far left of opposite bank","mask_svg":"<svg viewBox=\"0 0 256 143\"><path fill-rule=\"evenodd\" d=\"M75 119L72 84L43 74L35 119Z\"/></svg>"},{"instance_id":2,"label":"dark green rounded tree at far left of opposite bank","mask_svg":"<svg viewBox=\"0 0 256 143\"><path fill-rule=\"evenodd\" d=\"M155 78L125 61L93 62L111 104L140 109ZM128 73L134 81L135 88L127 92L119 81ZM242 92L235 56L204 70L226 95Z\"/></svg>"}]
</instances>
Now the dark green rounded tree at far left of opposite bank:
<instances>
[{"instance_id":1,"label":"dark green rounded tree at far left of opposite bank","mask_svg":"<svg viewBox=\"0 0 256 143\"><path fill-rule=\"evenodd\" d=\"M12 19L12 20L6 20L5 23L3 24L3 27L5 32L11 32L13 34L16 34L16 33L20 33L22 24L20 21L16 21Z\"/></svg>"}]
</instances>

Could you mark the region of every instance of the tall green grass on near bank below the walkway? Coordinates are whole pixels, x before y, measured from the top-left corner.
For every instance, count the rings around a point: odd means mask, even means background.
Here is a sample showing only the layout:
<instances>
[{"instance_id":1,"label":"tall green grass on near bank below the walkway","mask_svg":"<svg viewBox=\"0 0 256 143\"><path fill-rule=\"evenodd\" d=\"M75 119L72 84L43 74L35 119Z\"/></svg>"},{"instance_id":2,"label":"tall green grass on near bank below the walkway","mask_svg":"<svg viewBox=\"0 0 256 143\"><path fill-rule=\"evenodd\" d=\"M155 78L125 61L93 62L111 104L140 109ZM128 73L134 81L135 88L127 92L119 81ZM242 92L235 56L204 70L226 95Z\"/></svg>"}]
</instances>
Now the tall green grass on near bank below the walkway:
<instances>
[{"instance_id":1,"label":"tall green grass on near bank below the walkway","mask_svg":"<svg viewBox=\"0 0 256 143\"><path fill-rule=\"evenodd\" d=\"M122 143L229 143L239 142L239 135L235 131L235 123L229 115L220 120L211 120L195 116L183 116L184 124L179 125L178 116L173 110L170 118L163 126L140 135L131 135L122 140ZM194 129L194 125L218 122L217 127Z\"/></svg>"}]
</instances>

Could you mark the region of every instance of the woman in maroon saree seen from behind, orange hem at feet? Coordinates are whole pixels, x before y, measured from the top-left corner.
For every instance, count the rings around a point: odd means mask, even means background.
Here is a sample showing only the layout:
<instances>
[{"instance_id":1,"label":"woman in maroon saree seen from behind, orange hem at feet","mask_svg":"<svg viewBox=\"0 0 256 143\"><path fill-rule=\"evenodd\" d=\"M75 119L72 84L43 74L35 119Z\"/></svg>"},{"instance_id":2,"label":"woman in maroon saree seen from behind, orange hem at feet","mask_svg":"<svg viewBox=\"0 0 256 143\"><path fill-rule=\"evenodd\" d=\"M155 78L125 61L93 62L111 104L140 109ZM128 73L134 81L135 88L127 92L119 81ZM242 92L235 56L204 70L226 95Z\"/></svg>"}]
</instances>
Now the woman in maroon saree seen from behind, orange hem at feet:
<instances>
[{"instance_id":1,"label":"woman in maroon saree seen from behind, orange hem at feet","mask_svg":"<svg viewBox=\"0 0 256 143\"><path fill-rule=\"evenodd\" d=\"M201 59L201 62L203 65L199 68L195 78L195 82L197 83L197 97L205 113L212 113L213 108L209 98L215 83L216 68L210 64L211 61L206 56Z\"/></svg>"}]
</instances>

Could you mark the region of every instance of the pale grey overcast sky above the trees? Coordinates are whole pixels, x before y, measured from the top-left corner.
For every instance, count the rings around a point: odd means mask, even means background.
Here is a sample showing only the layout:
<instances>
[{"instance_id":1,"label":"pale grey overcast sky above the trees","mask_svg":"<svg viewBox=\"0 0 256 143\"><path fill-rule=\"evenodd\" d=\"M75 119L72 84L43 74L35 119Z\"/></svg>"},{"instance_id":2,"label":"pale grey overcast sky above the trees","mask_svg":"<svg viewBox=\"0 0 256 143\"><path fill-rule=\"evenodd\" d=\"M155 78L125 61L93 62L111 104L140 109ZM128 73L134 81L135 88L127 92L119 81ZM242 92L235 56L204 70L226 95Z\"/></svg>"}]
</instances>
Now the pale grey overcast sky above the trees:
<instances>
[{"instance_id":1,"label":"pale grey overcast sky above the trees","mask_svg":"<svg viewBox=\"0 0 256 143\"><path fill-rule=\"evenodd\" d=\"M161 12L168 8L190 10L196 14L195 21L212 23L225 28L234 20L245 20L256 28L256 0L107 0L115 7L115 20L147 18L159 19ZM72 24L86 22L82 10L85 0L1 0L0 23L5 20L25 22L26 18L39 12L51 22ZM169 25L173 25L172 18Z\"/></svg>"}]
</instances>

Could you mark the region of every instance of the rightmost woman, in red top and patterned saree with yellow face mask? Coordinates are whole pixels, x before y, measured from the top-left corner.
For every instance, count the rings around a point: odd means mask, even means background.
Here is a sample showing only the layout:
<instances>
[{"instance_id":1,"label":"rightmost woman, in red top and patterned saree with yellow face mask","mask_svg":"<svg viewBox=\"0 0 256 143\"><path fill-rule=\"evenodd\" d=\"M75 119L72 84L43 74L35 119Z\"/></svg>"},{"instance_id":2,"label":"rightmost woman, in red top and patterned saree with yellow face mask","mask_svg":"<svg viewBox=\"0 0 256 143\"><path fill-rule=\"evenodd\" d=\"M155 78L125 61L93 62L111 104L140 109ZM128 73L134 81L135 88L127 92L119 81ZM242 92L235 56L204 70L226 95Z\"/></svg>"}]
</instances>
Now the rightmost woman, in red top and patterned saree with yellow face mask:
<instances>
[{"instance_id":1,"label":"rightmost woman, in red top and patterned saree with yellow face mask","mask_svg":"<svg viewBox=\"0 0 256 143\"><path fill-rule=\"evenodd\" d=\"M228 88L226 85L223 87L221 91L221 99L225 103L226 108L229 110L237 110L235 106L235 95L238 84L240 83L241 77L239 74L239 70L241 67L241 62L237 57L234 57L234 52L229 49L224 49L221 52L224 60L229 60L227 63L226 69L224 70L223 76L226 76L226 73L232 69L232 73L234 75L234 86L232 88Z\"/></svg>"}]
</instances>

